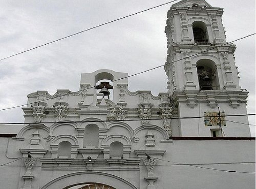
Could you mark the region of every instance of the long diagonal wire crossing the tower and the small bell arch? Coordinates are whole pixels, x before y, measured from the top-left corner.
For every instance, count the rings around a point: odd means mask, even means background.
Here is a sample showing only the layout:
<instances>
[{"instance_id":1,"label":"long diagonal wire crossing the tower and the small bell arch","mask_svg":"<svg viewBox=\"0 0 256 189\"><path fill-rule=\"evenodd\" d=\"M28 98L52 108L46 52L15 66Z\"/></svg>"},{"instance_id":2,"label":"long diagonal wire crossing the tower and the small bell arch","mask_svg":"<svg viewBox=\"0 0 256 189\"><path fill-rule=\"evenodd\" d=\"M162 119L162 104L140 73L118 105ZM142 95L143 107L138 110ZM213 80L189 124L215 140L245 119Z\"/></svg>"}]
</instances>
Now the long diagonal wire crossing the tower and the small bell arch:
<instances>
[{"instance_id":1,"label":"long diagonal wire crossing the tower and the small bell arch","mask_svg":"<svg viewBox=\"0 0 256 189\"><path fill-rule=\"evenodd\" d=\"M147 69L147 70L142 71L142 72L138 72L138 73L135 73L135 74L132 74L132 75L128 75L128 76L123 77L123 78L115 79L115 80L111 81L110 83L114 83L115 81L118 81L118 80L121 80L121 79L126 79L126 78L129 78L129 77L135 76L135 75L139 75L139 74L141 74L141 73L145 73L145 72L148 72L148 71L151 71L151 70L160 68L160 67L162 67L162 66L165 66L165 65L168 65L168 64L171 64L171 63L174 63L174 62L178 62L178 61L181 61L181 60L183 60L183 59L187 59L187 58L196 56L196 55L198 55L198 54L202 54L202 53L204 53L204 52L210 51L210 50L215 49L215 48L222 47L222 46L224 46L224 45L230 44L230 43L235 42L235 41L239 41L239 40L241 40L241 39L250 37L250 36L252 36L252 35L255 35L255 33L254 33L254 34L247 35L247 36L245 36L245 37L241 37L241 38L236 39L236 40L231 41L231 42L227 42L227 43L222 44L222 45L218 45L218 46L213 47L213 48L210 48L210 49L208 49L208 50L206 50L206 51L202 51L202 52L199 52L199 53L197 53L197 54L194 54L194 55L191 55L191 56L187 56L187 57L185 57L185 58L181 58L181 59L178 59L178 60L173 61L173 62L165 63L164 65L156 66L156 67L154 67L154 68L150 68L150 69ZM94 87L95 87L95 86L92 86L92 87L88 87L88 88L86 88L86 89L78 90L78 91L76 91L76 92L70 92L70 93L66 93L66 94L63 94L63 95L56 95L56 96L50 97L50 98L48 98L48 99L38 100L38 101L31 102L31 103L27 103L27 104L22 104L22 105L18 105L18 106L13 106L13 107L9 107L9 108L0 109L0 111L9 110L9 109L17 108L17 107L22 107L22 106L26 106L26 105L34 104L34 103L38 103L38 102L43 102L43 101L50 100L50 99L55 99L55 98L57 98L57 97L61 97L61 96L66 96L66 95L78 93L78 92L81 92L81 91L83 91L83 90L92 89L92 88L94 88Z\"/></svg>"}]
</instances>

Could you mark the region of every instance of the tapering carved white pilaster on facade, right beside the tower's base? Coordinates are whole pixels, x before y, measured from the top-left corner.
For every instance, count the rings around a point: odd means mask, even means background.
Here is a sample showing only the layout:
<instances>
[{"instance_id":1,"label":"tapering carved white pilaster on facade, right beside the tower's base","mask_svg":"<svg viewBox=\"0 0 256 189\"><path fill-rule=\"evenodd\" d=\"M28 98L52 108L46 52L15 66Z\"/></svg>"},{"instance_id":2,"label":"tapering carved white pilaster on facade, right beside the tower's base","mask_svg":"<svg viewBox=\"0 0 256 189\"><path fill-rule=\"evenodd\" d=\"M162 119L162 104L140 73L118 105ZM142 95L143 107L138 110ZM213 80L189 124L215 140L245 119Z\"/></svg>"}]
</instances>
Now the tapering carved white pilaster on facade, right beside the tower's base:
<instances>
[{"instance_id":1,"label":"tapering carved white pilaster on facade, right beside the tower's base","mask_svg":"<svg viewBox=\"0 0 256 189\"><path fill-rule=\"evenodd\" d=\"M164 130L167 131L169 137L172 137L173 127L171 126L170 118L173 116L173 107L171 107L169 104L161 104L159 110L160 117L163 119Z\"/></svg>"}]
</instances>

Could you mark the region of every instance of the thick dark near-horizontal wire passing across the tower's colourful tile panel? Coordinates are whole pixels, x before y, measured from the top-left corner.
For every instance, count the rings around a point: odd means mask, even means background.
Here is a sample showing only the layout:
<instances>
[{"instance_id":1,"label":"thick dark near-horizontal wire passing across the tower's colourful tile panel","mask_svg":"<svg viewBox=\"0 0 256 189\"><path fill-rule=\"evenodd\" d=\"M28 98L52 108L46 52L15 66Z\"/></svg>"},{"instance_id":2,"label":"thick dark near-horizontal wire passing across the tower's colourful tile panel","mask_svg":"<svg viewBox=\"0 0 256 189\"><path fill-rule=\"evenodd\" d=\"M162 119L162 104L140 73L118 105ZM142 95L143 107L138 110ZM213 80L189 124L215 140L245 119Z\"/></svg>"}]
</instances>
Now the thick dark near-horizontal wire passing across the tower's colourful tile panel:
<instances>
[{"instance_id":1,"label":"thick dark near-horizontal wire passing across the tower's colourful tile panel","mask_svg":"<svg viewBox=\"0 0 256 189\"><path fill-rule=\"evenodd\" d=\"M197 117L171 117L171 118L149 118L149 119L129 119L129 120L115 120L115 121L144 121L144 120L174 120L174 119L194 119L194 118L211 118L211 117L231 117L231 116L254 116L255 114L234 114L234 115L224 115L224 116L197 116ZM113 120L92 120L92 121L63 121L63 122L40 122L40 123L0 123L0 125L6 125L6 124L13 124L13 125L19 125L19 124L49 124L49 123L100 123L100 122L114 122Z\"/></svg>"}]
</instances>

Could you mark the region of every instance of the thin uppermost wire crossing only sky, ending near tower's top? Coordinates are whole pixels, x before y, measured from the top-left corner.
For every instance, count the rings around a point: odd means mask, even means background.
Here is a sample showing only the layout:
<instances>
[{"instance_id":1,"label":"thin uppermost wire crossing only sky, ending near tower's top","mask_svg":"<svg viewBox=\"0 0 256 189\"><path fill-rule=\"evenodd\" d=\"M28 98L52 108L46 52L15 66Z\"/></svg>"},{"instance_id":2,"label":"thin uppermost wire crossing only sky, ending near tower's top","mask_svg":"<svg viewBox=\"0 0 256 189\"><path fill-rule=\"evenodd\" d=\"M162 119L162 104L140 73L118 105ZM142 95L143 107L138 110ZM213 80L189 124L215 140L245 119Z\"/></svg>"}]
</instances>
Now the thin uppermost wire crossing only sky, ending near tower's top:
<instances>
[{"instance_id":1,"label":"thin uppermost wire crossing only sky, ending near tower's top","mask_svg":"<svg viewBox=\"0 0 256 189\"><path fill-rule=\"evenodd\" d=\"M137 13L129 14L128 16L124 16L124 17L121 17L121 18L117 18L117 19L115 19L115 20L106 22L106 23L104 23L104 24L96 25L96 26L94 26L94 27L92 27L92 28L89 28L89 29L86 29L86 30L83 30L83 31L76 32L76 33L74 33L74 34L71 34L71 35L68 35L68 36L65 36L65 37L56 39L56 40L54 40L54 41L47 42L47 43L45 43L45 44L39 45L39 46L34 47L34 48L31 48L31 49L27 49L26 51L22 51L22 52L19 52L19 53L17 53L17 54L14 54L14 55L7 56L7 57L5 57L5 58L0 59L0 61L5 60L5 59L7 59L7 58L11 58L11 57L13 57L13 56L17 56L17 55L22 54L22 53L24 53L24 52L31 51L31 50L36 49L36 48L39 48L39 47L43 47L43 46L45 46L45 45L49 45L49 44L51 44L51 43L60 41L60 40L62 40L62 39L66 39L66 38L72 37L72 36L74 36L74 35L81 34L81 33L83 33L83 32L86 32L86 31L89 31L89 30L92 30L92 29L101 27L101 26L103 26L103 25L107 25L107 24L110 24L110 23L113 23L113 22L122 20L122 19L124 19L124 18L128 18L128 17L130 17L130 16L134 16L134 15L136 15L136 14L140 14L140 13L143 13L143 12L145 12L145 11L148 11L148 10L151 10L151 9L154 9L154 8L157 8L157 7L161 7L161 6L163 6L163 5L166 5L166 4L169 4L169 3L173 3L174 1L177 1L177 0L169 1L169 2L167 2L167 3L163 3L163 4L160 4L160 5L155 6L155 7L147 8L147 9L142 10L142 11L139 11L139 12L137 12Z\"/></svg>"}]
</instances>

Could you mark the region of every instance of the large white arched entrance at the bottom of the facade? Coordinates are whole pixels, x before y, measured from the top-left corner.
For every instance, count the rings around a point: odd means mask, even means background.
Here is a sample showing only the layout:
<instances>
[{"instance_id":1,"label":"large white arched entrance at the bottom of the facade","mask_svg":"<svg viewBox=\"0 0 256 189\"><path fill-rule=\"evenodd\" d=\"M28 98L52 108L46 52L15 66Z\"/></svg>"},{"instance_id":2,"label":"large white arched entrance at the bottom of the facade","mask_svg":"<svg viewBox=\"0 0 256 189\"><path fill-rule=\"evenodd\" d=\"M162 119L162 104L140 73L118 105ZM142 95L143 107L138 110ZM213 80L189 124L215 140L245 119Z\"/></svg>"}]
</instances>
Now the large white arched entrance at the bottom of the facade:
<instances>
[{"instance_id":1,"label":"large white arched entrance at the bottom of the facade","mask_svg":"<svg viewBox=\"0 0 256 189\"><path fill-rule=\"evenodd\" d=\"M95 171L83 171L63 175L48 182L40 189L76 189L71 187L78 185L82 185L82 187L85 187L82 189L96 189L95 186L97 185L100 186L97 189L102 189L103 186L103 189L108 189L108 187L110 187L109 189L138 189L132 183L126 181L123 178L111 175L109 173Z\"/></svg>"}]
</instances>

